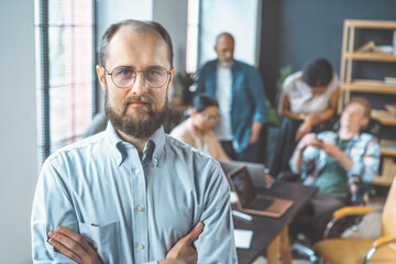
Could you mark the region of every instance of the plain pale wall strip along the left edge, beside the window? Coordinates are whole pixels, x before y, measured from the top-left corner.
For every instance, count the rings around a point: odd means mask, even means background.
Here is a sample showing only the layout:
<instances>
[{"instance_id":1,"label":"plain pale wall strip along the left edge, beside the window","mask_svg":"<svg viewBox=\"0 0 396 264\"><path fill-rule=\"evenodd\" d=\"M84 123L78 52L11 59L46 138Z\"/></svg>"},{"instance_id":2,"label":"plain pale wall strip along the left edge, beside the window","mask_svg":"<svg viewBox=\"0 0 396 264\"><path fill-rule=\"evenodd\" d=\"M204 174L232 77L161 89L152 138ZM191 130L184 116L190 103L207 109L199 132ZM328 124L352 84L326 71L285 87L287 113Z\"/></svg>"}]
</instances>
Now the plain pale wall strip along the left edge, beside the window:
<instances>
[{"instance_id":1,"label":"plain pale wall strip along the left edge, beside the window","mask_svg":"<svg viewBox=\"0 0 396 264\"><path fill-rule=\"evenodd\" d=\"M31 263L37 179L34 1L0 1L0 263Z\"/></svg>"}]
</instances>

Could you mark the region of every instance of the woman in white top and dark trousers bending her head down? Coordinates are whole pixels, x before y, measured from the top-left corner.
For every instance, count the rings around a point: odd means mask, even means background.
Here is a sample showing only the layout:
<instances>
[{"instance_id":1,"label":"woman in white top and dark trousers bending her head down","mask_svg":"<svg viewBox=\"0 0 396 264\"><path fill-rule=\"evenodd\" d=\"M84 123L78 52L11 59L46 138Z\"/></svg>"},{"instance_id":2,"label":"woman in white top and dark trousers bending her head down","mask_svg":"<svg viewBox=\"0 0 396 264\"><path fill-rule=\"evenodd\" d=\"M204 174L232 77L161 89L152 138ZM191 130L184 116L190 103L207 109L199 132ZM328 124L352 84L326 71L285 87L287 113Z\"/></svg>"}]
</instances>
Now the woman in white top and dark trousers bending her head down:
<instances>
[{"instance_id":1,"label":"woman in white top and dark trousers bending her head down","mask_svg":"<svg viewBox=\"0 0 396 264\"><path fill-rule=\"evenodd\" d=\"M272 175L289 170L288 161L297 142L334 116L338 86L337 75L324 58L308 63L302 72L285 79L278 108L284 119L279 146L270 167Z\"/></svg>"}]
</instances>

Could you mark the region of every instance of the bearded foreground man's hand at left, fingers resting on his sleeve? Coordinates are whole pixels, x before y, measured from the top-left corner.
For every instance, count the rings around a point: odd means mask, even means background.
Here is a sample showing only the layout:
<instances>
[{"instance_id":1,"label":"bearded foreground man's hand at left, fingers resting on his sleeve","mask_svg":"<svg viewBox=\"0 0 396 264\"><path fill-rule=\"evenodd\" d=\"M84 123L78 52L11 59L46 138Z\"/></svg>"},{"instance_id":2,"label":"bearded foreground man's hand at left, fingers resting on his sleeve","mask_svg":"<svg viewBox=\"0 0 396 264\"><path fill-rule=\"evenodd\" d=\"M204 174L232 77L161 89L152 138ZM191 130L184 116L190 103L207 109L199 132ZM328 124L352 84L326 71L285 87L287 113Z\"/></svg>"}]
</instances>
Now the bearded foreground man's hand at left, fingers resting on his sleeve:
<instances>
[{"instance_id":1,"label":"bearded foreground man's hand at left, fingers resting on his sleeve","mask_svg":"<svg viewBox=\"0 0 396 264\"><path fill-rule=\"evenodd\" d=\"M62 226L58 226L56 231L51 230L48 232L48 243L52 244L61 254L77 262L78 264L102 263L98 253L82 235Z\"/></svg>"}]
</instances>

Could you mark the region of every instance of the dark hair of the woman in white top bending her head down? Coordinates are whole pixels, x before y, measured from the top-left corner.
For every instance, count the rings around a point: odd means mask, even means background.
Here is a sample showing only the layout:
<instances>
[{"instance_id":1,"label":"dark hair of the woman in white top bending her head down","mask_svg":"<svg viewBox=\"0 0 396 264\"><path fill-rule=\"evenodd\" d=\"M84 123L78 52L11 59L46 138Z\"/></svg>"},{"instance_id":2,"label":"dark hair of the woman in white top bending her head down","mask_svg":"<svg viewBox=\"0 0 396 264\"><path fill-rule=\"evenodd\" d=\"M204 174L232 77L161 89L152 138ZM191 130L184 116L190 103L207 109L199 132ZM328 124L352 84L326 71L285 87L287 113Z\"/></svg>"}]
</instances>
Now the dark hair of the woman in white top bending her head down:
<instances>
[{"instance_id":1,"label":"dark hair of the woman in white top bending her head down","mask_svg":"<svg viewBox=\"0 0 396 264\"><path fill-rule=\"evenodd\" d=\"M302 68L302 79L309 87L328 86L333 77L331 64L326 58L318 58Z\"/></svg>"}]
</instances>

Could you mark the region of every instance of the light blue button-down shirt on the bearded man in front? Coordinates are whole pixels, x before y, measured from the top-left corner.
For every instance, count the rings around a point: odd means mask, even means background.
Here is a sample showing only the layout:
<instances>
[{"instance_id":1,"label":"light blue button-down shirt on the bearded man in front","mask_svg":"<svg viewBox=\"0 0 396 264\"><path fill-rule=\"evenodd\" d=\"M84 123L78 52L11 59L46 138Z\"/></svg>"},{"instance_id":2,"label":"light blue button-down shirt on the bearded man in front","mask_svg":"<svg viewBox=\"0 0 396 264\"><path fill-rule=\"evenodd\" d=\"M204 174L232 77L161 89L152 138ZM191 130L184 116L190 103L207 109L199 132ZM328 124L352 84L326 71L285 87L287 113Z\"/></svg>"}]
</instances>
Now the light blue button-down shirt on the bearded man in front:
<instances>
[{"instance_id":1,"label":"light blue button-down shirt on the bearded man in front","mask_svg":"<svg viewBox=\"0 0 396 264\"><path fill-rule=\"evenodd\" d=\"M198 221L198 263L237 263L230 187L218 162L158 129L142 158L111 123L97 135L52 154L32 211L34 263L74 263L47 243L68 227L103 263L146 263L167 252Z\"/></svg>"}]
</instances>

